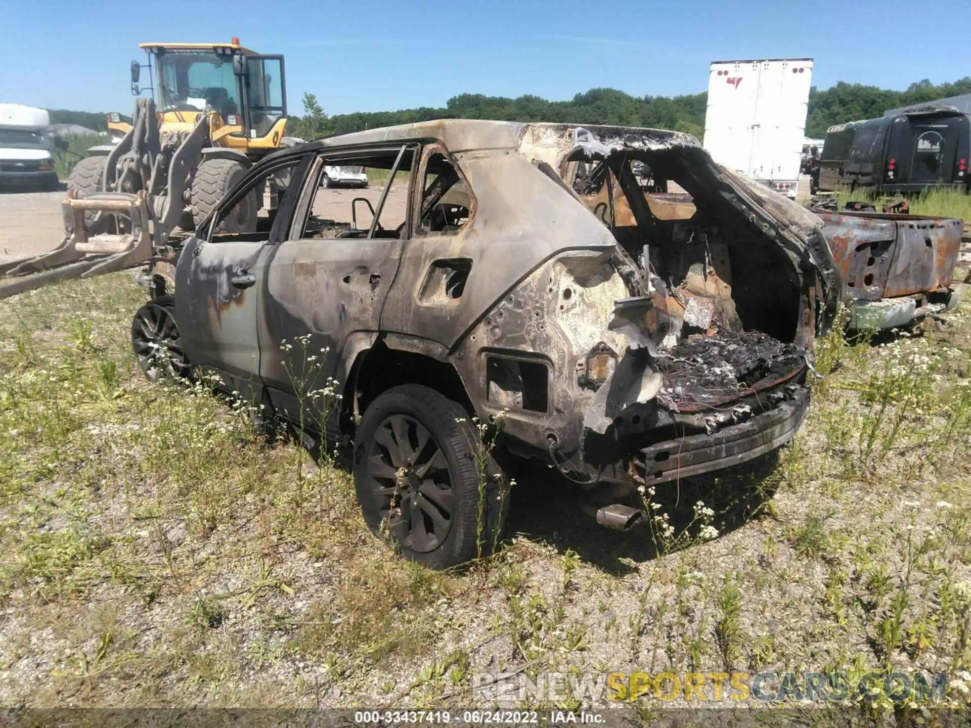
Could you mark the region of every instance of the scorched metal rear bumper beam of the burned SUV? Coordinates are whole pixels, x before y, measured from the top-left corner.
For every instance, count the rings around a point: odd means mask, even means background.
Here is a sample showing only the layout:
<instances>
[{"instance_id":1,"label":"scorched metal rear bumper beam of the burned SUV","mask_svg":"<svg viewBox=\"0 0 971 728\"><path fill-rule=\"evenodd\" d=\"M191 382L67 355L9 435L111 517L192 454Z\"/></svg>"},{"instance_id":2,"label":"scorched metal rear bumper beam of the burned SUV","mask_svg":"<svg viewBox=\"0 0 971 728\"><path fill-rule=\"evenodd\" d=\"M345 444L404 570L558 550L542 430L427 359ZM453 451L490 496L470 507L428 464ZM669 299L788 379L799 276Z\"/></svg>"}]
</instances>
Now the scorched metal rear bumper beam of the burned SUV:
<instances>
[{"instance_id":1,"label":"scorched metal rear bumper beam of the burned SUV","mask_svg":"<svg viewBox=\"0 0 971 728\"><path fill-rule=\"evenodd\" d=\"M795 385L789 399L747 422L712 435L691 435L645 447L634 457L636 480L655 485L744 463L795 437L809 410L809 388Z\"/></svg>"}]
</instances>

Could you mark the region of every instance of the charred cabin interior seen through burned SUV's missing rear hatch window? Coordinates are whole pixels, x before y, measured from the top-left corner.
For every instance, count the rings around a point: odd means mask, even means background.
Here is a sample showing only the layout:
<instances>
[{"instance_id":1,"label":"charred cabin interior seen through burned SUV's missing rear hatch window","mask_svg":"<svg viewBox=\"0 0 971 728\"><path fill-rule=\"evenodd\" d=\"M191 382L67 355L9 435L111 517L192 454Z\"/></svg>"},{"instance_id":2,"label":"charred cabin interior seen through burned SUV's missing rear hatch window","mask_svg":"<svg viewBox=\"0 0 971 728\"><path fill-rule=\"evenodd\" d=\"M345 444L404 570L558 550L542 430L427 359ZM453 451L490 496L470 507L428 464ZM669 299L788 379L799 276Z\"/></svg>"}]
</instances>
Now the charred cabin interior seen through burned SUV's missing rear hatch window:
<instances>
[{"instance_id":1,"label":"charred cabin interior seen through burned SUV's missing rear hatch window","mask_svg":"<svg viewBox=\"0 0 971 728\"><path fill-rule=\"evenodd\" d=\"M797 338L801 291L785 252L732 205L727 185L711 183L706 159L682 148L623 150L578 172L574 189L620 247L642 265L647 251L684 336L747 330ZM652 191L672 182L685 194Z\"/></svg>"}]
</instances>

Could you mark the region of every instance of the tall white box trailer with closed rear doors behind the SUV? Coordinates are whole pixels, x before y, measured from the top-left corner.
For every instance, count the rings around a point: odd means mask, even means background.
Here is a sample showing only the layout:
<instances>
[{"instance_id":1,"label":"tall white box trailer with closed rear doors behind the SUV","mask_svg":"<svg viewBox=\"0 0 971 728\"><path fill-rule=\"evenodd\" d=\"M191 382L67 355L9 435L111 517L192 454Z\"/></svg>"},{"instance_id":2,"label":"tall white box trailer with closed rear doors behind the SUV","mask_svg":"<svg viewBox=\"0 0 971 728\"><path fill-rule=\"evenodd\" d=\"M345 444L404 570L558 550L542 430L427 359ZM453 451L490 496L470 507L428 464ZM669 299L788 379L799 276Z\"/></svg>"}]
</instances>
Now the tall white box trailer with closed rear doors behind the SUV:
<instances>
[{"instance_id":1,"label":"tall white box trailer with closed rear doors behind the SUV","mask_svg":"<svg viewBox=\"0 0 971 728\"><path fill-rule=\"evenodd\" d=\"M812 58L715 61L705 149L721 165L795 199Z\"/></svg>"}]
</instances>

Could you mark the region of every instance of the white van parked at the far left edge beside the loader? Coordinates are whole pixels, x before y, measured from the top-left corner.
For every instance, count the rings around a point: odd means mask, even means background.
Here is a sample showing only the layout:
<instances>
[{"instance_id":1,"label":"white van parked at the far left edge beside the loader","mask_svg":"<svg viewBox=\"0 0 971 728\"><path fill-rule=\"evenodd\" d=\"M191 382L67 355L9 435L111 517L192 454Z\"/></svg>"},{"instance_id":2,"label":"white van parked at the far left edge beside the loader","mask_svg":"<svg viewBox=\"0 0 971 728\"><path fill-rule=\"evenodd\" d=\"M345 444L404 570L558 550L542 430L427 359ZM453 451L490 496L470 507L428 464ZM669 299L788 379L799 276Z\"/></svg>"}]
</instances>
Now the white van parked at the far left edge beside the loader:
<instances>
[{"instance_id":1,"label":"white van parked at the far left edge beside the loader","mask_svg":"<svg viewBox=\"0 0 971 728\"><path fill-rule=\"evenodd\" d=\"M0 186L57 189L44 109L0 104Z\"/></svg>"}]
</instances>

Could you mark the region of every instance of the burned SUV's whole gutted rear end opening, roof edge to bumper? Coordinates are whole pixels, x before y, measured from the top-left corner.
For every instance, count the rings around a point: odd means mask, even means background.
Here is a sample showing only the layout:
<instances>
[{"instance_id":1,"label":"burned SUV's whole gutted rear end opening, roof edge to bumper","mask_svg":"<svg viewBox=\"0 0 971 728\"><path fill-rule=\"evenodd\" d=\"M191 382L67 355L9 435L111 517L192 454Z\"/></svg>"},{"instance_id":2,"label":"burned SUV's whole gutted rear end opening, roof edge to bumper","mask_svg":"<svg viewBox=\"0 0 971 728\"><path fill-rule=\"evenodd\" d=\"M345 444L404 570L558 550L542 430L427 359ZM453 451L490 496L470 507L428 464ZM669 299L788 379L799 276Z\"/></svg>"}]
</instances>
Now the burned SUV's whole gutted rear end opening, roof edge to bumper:
<instances>
[{"instance_id":1,"label":"burned SUV's whole gutted rear end opening, roof edge to bumper","mask_svg":"<svg viewBox=\"0 0 971 728\"><path fill-rule=\"evenodd\" d=\"M783 234L794 228L805 240L812 218L779 215L787 205L801 211L787 200L769 200L778 208L769 215L753 199L755 190L739 189L737 179L729 183L730 174L701 149L627 142L581 145L583 152L575 149L561 170L610 228L639 294L619 301L610 322L627 334L633 362L623 365L621 357L601 387L606 391L594 396L585 457L606 462L632 446L643 455L644 447L691 436L714 444L720 430L795 402L799 412L786 413L783 429L770 425L771 433L751 442L752 433L738 430L736 446L722 443L718 452L695 457L694 467L713 470L731 464L724 457L738 462L770 443L778 447L801 422L808 349L820 309L829 308L812 255ZM664 454L654 456L663 461ZM674 477L643 456L628 469L640 481Z\"/></svg>"}]
</instances>

